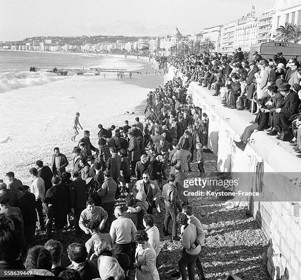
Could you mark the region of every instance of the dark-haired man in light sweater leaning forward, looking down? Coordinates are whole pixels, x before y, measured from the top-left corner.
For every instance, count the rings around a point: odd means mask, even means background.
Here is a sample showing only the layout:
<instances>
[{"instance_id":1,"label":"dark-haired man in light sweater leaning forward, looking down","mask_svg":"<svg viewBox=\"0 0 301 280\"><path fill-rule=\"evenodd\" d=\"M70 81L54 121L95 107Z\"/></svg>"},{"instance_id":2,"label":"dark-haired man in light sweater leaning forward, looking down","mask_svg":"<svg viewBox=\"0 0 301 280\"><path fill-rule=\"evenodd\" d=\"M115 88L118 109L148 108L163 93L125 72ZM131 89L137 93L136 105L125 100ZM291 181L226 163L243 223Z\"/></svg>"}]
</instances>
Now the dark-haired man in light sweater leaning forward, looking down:
<instances>
[{"instance_id":1,"label":"dark-haired man in light sweater leaning forward, looking down","mask_svg":"<svg viewBox=\"0 0 301 280\"><path fill-rule=\"evenodd\" d=\"M100 222L100 230L103 230L107 219L108 213L102 207L95 206L94 201L89 199L86 201L86 209L81 213L79 226L86 234L89 234L90 231L87 225L90 221L98 220Z\"/></svg>"}]
</instances>

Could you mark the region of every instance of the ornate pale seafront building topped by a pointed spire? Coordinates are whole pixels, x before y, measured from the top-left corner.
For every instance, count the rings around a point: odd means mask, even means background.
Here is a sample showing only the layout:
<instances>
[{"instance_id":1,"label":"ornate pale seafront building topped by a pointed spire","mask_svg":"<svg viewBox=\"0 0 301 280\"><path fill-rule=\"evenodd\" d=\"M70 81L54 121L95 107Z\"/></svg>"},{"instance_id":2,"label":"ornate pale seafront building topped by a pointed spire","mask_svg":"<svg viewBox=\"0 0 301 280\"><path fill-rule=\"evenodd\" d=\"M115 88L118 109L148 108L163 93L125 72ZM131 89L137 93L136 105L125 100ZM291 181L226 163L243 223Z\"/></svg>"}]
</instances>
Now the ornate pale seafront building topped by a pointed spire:
<instances>
[{"instance_id":1,"label":"ornate pale seafront building topped by a pointed spire","mask_svg":"<svg viewBox=\"0 0 301 280\"><path fill-rule=\"evenodd\" d=\"M235 29L235 48L250 51L250 46L257 43L258 20L255 17L255 6L251 12L238 20Z\"/></svg>"}]
</instances>

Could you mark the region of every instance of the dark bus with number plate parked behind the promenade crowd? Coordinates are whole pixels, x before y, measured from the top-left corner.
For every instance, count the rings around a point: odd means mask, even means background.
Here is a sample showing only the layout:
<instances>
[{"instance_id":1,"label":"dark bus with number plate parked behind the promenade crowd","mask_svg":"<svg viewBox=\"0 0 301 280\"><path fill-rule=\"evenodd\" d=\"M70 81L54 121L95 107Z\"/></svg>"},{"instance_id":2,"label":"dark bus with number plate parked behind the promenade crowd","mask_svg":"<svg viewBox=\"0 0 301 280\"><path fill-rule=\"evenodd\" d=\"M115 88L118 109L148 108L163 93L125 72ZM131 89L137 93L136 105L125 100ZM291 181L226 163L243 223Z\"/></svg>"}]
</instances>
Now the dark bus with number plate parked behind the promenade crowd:
<instances>
[{"instance_id":1,"label":"dark bus with number plate parked behind the promenade crowd","mask_svg":"<svg viewBox=\"0 0 301 280\"><path fill-rule=\"evenodd\" d=\"M290 58L296 58L297 61L301 61L301 45L290 43L290 42L268 42L268 43L257 43L251 45L249 61L253 60L252 52L258 51L262 58L268 61L273 59L273 55L282 52L283 57L286 60Z\"/></svg>"}]
</instances>

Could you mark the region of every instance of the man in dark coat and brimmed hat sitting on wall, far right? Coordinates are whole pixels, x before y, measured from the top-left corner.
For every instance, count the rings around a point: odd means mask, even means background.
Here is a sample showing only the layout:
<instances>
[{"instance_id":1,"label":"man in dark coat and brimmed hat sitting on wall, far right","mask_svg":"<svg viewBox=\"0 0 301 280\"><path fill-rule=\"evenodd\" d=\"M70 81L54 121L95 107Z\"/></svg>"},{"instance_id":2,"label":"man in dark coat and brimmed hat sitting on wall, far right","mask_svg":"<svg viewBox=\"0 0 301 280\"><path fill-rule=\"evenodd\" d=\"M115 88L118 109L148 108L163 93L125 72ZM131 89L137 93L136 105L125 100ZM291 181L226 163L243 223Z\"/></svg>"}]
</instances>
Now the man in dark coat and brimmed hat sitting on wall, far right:
<instances>
[{"instance_id":1,"label":"man in dark coat and brimmed hat sitting on wall, far right","mask_svg":"<svg viewBox=\"0 0 301 280\"><path fill-rule=\"evenodd\" d=\"M277 139L280 139L282 131L287 131L290 124L290 118L298 113L300 99L298 93L290 89L290 85L282 83L278 87L278 91L284 96L281 108L277 108L273 114L273 123L278 130Z\"/></svg>"}]
</instances>

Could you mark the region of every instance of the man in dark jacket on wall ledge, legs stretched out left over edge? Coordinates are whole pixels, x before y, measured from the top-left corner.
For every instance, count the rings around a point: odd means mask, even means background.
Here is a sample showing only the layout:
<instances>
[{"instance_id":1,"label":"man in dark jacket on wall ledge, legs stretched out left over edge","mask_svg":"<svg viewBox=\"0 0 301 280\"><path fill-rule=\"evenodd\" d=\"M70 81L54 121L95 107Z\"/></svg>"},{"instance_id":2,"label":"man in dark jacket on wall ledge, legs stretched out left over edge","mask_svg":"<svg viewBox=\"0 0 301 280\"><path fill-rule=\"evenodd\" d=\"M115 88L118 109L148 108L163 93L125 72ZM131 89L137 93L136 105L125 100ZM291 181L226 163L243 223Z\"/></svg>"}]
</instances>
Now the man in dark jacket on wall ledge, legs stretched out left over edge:
<instances>
[{"instance_id":1,"label":"man in dark jacket on wall ledge, legs stretched out left over edge","mask_svg":"<svg viewBox=\"0 0 301 280\"><path fill-rule=\"evenodd\" d=\"M256 116L255 124L250 125L244 128L244 131L241 135L241 141L235 141L235 145L244 151L246 144L248 143L248 139L250 138L253 132L262 131L269 126L269 113L265 113L265 109L267 108L263 99L257 100L257 105L259 106L260 110Z\"/></svg>"}]
</instances>

